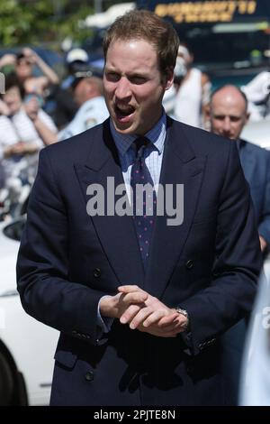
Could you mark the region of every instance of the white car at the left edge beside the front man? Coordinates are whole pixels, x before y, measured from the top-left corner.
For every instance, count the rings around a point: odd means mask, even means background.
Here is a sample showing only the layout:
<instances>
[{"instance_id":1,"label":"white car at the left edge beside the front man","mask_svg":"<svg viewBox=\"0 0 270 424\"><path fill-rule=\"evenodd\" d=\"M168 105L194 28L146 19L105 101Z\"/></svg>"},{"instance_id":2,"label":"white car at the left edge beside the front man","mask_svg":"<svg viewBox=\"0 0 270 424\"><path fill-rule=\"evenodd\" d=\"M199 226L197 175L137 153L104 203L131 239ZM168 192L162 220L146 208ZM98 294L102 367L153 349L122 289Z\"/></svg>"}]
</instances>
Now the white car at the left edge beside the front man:
<instances>
[{"instance_id":1,"label":"white car at the left edge beside the front man","mask_svg":"<svg viewBox=\"0 0 270 424\"><path fill-rule=\"evenodd\" d=\"M0 224L0 406L47 405L58 331L25 313L15 265L23 218Z\"/></svg>"}]
</instances>

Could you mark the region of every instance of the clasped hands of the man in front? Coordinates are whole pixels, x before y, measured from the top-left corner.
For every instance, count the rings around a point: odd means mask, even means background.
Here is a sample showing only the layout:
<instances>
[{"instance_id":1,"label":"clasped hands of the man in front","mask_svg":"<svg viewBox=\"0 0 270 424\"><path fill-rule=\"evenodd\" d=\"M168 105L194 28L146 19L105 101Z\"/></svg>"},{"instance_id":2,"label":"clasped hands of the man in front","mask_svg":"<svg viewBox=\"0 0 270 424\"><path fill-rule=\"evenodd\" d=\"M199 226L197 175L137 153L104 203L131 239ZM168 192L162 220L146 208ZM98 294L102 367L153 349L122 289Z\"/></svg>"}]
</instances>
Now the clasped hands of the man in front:
<instances>
[{"instance_id":1,"label":"clasped hands of the man in front","mask_svg":"<svg viewBox=\"0 0 270 424\"><path fill-rule=\"evenodd\" d=\"M115 296L101 300L100 310L104 317L118 318L131 329L159 337L175 337L185 329L187 318L166 307L160 300L136 285L118 288Z\"/></svg>"}]
</instances>

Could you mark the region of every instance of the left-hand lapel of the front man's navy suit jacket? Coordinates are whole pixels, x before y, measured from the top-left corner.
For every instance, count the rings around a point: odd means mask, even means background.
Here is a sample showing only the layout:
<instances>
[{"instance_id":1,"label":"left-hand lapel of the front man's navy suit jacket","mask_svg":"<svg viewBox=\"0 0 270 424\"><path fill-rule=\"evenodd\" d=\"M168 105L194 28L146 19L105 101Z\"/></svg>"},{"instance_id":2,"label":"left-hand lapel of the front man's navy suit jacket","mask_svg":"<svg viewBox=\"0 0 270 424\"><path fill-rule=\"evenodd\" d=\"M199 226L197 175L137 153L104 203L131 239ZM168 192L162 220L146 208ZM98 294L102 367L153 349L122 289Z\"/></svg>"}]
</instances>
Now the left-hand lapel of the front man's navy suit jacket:
<instances>
[{"instance_id":1,"label":"left-hand lapel of the front man's navy suit jacket","mask_svg":"<svg viewBox=\"0 0 270 424\"><path fill-rule=\"evenodd\" d=\"M76 164L75 168L85 203L89 200L86 190L90 184L100 184L104 189L105 216L89 216L89 220L92 220L94 224L96 234L103 246L103 252L112 266L119 285L138 284L140 287L143 286L144 271L132 218L119 217L117 214L106 216L107 177L114 179L114 187L124 184L118 153L109 129L109 121L103 125L102 137L99 134L93 141L90 155L85 163L83 165Z\"/></svg>"}]
</instances>

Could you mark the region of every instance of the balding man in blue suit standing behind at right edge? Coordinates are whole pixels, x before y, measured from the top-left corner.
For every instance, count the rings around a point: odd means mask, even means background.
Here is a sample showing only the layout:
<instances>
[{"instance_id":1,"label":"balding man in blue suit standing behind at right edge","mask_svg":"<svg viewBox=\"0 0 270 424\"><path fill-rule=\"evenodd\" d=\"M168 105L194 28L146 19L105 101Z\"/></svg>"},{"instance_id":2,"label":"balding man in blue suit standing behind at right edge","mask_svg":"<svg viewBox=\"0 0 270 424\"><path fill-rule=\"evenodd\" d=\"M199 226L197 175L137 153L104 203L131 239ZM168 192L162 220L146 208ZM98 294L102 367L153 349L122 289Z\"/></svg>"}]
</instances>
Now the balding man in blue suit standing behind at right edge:
<instances>
[{"instance_id":1,"label":"balding man in blue suit standing behind at right edge","mask_svg":"<svg viewBox=\"0 0 270 424\"><path fill-rule=\"evenodd\" d=\"M255 207L262 252L270 246L270 153L240 138L247 124L247 97L235 86L223 86L211 96L211 131L237 141L245 178Z\"/></svg>"}]
</instances>

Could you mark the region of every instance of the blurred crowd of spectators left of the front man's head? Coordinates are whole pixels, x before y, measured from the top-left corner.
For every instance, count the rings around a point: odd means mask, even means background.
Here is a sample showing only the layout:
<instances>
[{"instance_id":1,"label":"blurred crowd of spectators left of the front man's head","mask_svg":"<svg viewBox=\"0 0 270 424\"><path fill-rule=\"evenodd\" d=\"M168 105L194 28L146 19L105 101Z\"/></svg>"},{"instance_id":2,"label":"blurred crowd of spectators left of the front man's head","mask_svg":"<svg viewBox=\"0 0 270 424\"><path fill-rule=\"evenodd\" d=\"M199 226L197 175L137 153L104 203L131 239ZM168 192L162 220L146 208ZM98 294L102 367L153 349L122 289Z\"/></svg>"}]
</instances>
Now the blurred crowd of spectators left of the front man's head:
<instances>
[{"instance_id":1,"label":"blurred crowd of spectators left of the front man's head","mask_svg":"<svg viewBox=\"0 0 270 424\"><path fill-rule=\"evenodd\" d=\"M30 48L0 59L4 93L0 95L0 203L14 213L22 189L36 175L40 149L100 124L108 116L102 69L88 65L81 49L67 54L67 77L60 81ZM34 67L42 75L35 76ZM52 93L53 108L46 107Z\"/></svg>"}]
</instances>

